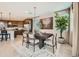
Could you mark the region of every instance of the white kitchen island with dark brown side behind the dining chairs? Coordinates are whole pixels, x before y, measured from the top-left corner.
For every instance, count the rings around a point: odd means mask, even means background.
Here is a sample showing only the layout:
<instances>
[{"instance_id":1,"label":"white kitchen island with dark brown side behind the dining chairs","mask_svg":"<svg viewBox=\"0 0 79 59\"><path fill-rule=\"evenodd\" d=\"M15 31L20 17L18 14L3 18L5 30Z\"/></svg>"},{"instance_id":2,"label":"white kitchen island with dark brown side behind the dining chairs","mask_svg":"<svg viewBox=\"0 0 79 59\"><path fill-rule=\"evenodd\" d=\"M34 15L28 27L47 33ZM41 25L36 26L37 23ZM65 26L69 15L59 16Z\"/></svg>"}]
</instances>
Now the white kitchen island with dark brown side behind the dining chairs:
<instances>
[{"instance_id":1,"label":"white kitchen island with dark brown side behind the dining chairs","mask_svg":"<svg viewBox=\"0 0 79 59\"><path fill-rule=\"evenodd\" d=\"M24 29L19 27L9 27L9 28L6 28L6 31L8 34L10 34L10 40L15 40L17 35L22 35ZM0 30L0 33L1 33L1 30Z\"/></svg>"}]
</instances>

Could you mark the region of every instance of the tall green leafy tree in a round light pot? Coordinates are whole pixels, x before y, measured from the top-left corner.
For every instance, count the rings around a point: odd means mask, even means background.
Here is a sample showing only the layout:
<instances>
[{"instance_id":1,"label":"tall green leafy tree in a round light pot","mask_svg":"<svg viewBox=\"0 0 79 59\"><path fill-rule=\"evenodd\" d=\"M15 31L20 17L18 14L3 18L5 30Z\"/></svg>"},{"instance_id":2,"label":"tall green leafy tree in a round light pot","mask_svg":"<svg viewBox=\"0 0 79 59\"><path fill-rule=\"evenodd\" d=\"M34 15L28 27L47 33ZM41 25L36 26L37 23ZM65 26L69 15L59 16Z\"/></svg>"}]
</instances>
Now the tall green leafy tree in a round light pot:
<instances>
[{"instance_id":1,"label":"tall green leafy tree in a round light pot","mask_svg":"<svg viewBox=\"0 0 79 59\"><path fill-rule=\"evenodd\" d=\"M59 43L65 43L65 39L62 35L63 35L63 31L65 31L68 27L68 16L59 16L56 13L55 18L56 18L56 20L55 20L56 28L57 28L57 30L60 31L60 37L58 39L58 42Z\"/></svg>"}]
</instances>

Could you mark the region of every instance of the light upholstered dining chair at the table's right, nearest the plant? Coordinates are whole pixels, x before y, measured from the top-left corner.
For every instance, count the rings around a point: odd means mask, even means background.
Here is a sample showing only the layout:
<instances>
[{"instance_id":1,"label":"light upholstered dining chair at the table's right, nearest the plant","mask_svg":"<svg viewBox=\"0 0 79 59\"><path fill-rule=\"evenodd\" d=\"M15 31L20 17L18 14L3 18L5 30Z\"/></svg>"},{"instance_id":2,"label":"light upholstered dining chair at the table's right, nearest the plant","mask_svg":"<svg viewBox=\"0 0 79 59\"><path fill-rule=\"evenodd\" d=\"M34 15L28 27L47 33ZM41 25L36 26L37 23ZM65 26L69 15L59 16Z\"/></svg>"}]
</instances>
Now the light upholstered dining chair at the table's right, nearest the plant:
<instances>
[{"instance_id":1,"label":"light upholstered dining chair at the table's right, nearest the plant","mask_svg":"<svg viewBox=\"0 0 79 59\"><path fill-rule=\"evenodd\" d=\"M45 41L46 45L52 47L53 54L55 53L55 47L57 48L57 34L53 34L52 39Z\"/></svg>"}]
</instances>

